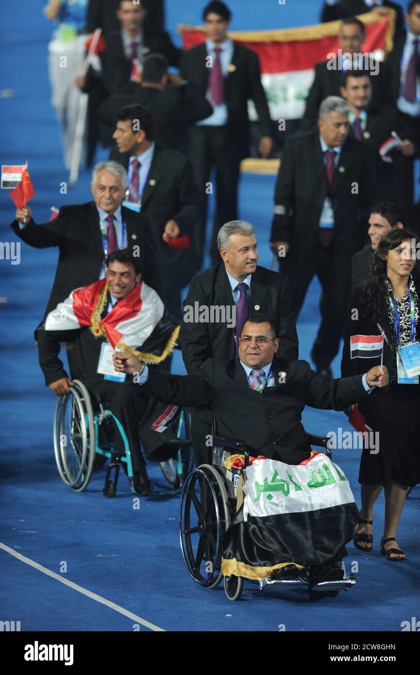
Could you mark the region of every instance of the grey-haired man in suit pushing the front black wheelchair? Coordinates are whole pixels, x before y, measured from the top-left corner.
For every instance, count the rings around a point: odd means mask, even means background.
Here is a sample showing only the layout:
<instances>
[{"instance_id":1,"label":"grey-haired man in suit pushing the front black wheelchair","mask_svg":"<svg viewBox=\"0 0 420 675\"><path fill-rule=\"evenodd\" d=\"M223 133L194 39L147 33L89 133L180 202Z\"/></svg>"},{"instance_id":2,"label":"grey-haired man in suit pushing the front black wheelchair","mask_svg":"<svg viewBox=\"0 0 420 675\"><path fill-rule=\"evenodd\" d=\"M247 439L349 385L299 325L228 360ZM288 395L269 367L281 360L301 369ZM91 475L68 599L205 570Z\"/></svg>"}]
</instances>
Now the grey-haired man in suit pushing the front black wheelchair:
<instances>
[{"instance_id":1,"label":"grey-haired man in suit pushing the front black wheelchair","mask_svg":"<svg viewBox=\"0 0 420 675\"><path fill-rule=\"evenodd\" d=\"M232 221L219 230L217 244L222 261L191 279L184 301L180 347L187 373L195 373L208 358L236 358L238 337L249 314L269 315L279 338L279 356L298 358L298 337L288 281L282 274L259 267L255 229L251 223ZM190 308L234 308L236 321L190 321ZM226 315L228 313L226 312ZM211 433L208 412L192 415L192 442L197 466L209 461L206 437Z\"/></svg>"}]
</instances>

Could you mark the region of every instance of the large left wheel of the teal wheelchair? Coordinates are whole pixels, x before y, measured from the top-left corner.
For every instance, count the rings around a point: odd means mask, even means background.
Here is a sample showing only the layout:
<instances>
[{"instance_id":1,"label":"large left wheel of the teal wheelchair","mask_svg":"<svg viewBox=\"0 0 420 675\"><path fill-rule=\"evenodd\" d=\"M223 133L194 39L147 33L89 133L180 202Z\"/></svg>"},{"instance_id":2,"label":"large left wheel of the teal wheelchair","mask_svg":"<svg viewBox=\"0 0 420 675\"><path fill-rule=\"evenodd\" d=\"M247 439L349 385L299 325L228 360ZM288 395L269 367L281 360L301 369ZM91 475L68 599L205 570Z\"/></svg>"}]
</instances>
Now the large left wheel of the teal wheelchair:
<instances>
[{"instance_id":1,"label":"large left wheel of the teal wheelchair","mask_svg":"<svg viewBox=\"0 0 420 675\"><path fill-rule=\"evenodd\" d=\"M74 380L70 394L60 396L55 406L54 452L61 479L75 491L90 481L95 459L95 424L88 390Z\"/></svg>"}]
</instances>

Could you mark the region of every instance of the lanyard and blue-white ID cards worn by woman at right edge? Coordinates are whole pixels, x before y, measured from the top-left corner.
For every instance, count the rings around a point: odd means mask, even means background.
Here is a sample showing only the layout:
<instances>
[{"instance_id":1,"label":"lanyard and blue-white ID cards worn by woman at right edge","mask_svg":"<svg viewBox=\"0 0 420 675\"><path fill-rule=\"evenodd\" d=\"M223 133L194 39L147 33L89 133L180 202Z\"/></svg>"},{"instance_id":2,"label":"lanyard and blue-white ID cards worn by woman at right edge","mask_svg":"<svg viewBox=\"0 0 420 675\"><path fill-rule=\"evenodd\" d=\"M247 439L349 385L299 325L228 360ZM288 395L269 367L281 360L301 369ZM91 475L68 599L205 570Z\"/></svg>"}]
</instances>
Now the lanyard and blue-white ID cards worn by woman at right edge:
<instances>
[{"instance_id":1,"label":"lanyard and blue-white ID cards worn by woman at right edge","mask_svg":"<svg viewBox=\"0 0 420 675\"><path fill-rule=\"evenodd\" d=\"M420 373L420 344L415 341L416 322L415 306L413 296L410 292L409 282L409 303L410 303L410 337L409 344L400 346L400 316L398 307L392 293L388 294L392 310L392 320L394 321L394 330L396 338L396 367L398 384L419 384Z\"/></svg>"}]
</instances>

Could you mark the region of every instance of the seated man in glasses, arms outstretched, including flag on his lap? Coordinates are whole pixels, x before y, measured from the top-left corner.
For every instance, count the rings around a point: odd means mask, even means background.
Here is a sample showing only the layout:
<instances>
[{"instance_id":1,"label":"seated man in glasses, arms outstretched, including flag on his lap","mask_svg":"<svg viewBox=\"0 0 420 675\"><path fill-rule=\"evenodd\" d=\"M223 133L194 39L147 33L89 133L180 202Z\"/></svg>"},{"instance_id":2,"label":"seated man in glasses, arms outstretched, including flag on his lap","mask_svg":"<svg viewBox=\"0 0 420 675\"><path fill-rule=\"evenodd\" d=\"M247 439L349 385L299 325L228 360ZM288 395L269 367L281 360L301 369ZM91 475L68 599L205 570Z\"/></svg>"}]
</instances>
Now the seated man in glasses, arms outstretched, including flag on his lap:
<instances>
[{"instance_id":1,"label":"seated man in glasses, arms outstretched, including flag on his lap","mask_svg":"<svg viewBox=\"0 0 420 675\"><path fill-rule=\"evenodd\" d=\"M209 358L192 375L151 372L128 352L116 352L113 360L115 371L134 375L133 387L139 392L179 406L208 408L219 435L244 441L251 454L263 456L248 470L257 470L255 494L248 502L246 495L244 508L236 513L222 543L224 574L288 579L309 566L315 570L313 583L335 581L342 578L338 561L352 538L357 506L342 470L327 456L311 451L301 413L305 405L344 410L375 395L374 387L386 386L388 372L377 366L363 376L321 378L306 361L274 358L278 344L273 321L254 315L242 327L238 359ZM263 479L265 462L269 475L266 471ZM294 472L297 468L300 473L309 471L305 489ZM275 504L273 497L281 486L284 499L276 511L271 499ZM251 494L251 487L247 480L245 493ZM287 506L290 491L294 509ZM260 508L257 516L251 504Z\"/></svg>"}]
</instances>

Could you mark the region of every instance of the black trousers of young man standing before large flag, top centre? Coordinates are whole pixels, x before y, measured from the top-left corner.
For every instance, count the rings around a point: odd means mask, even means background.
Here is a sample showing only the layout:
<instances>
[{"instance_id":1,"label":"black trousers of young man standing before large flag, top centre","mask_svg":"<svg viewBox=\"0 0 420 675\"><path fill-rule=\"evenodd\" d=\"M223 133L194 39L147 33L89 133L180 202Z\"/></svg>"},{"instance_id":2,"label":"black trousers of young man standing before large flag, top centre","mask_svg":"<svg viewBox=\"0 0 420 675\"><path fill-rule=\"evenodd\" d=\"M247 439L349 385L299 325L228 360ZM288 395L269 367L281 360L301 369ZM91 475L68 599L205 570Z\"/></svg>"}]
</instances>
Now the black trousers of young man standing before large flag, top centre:
<instances>
[{"instance_id":1,"label":"black trousers of young man standing before large flag, top centre","mask_svg":"<svg viewBox=\"0 0 420 675\"><path fill-rule=\"evenodd\" d=\"M211 264L219 263L217 232L222 225L238 218L238 180L240 156L232 147L227 126L193 126L188 132L188 157L202 197L201 219L196 225L195 242L197 266L203 262L208 195L214 194L209 185L211 169L215 167L216 203L211 235Z\"/></svg>"}]
</instances>

